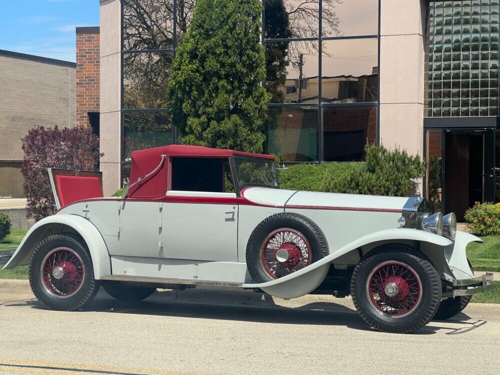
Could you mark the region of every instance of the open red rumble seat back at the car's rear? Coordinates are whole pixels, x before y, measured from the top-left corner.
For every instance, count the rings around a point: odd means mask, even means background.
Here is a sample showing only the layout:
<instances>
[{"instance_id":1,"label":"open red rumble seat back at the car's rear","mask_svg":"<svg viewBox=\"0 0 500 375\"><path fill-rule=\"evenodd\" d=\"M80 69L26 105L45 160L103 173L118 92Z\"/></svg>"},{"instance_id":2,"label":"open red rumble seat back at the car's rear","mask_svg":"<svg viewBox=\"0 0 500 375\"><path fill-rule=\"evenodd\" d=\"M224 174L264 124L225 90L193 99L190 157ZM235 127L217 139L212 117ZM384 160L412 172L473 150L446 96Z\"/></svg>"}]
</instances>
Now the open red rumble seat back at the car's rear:
<instances>
[{"instance_id":1,"label":"open red rumble seat back at the car's rear","mask_svg":"<svg viewBox=\"0 0 500 375\"><path fill-rule=\"evenodd\" d=\"M50 183L57 208L82 199L102 197L102 173L49 169Z\"/></svg>"}]
</instances>

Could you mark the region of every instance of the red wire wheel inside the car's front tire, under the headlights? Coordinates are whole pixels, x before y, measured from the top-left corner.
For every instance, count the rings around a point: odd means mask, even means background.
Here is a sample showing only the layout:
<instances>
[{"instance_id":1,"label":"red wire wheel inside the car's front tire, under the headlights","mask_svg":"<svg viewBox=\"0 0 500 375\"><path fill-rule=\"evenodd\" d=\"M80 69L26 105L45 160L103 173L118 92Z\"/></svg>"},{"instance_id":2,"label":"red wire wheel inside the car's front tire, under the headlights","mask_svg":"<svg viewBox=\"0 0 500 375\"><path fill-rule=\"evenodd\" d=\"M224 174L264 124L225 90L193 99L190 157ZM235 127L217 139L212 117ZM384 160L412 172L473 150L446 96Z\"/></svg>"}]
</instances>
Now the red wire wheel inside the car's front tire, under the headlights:
<instances>
[{"instance_id":1,"label":"red wire wheel inside the car's front tire, under the headlights","mask_svg":"<svg viewBox=\"0 0 500 375\"><path fill-rule=\"evenodd\" d=\"M386 261L369 274L366 292L371 304L382 314L402 317L418 306L422 298L422 283L408 264Z\"/></svg>"}]
</instances>

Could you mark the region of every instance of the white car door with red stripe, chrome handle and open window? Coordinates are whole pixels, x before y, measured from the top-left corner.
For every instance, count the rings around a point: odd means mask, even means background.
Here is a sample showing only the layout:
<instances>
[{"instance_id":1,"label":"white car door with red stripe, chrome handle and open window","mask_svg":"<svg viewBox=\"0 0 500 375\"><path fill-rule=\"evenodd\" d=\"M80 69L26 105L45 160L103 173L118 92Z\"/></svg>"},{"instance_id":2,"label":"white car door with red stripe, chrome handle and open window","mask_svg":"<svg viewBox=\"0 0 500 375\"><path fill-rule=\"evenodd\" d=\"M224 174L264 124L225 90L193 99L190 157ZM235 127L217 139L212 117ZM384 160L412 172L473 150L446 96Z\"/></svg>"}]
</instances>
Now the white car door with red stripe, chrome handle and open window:
<instances>
[{"instance_id":1,"label":"white car door with red stripe, chrome handle and open window","mask_svg":"<svg viewBox=\"0 0 500 375\"><path fill-rule=\"evenodd\" d=\"M227 161L172 158L172 189L162 209L164 257L238 261L238 204Z\"/></svg>"}]
</instances>

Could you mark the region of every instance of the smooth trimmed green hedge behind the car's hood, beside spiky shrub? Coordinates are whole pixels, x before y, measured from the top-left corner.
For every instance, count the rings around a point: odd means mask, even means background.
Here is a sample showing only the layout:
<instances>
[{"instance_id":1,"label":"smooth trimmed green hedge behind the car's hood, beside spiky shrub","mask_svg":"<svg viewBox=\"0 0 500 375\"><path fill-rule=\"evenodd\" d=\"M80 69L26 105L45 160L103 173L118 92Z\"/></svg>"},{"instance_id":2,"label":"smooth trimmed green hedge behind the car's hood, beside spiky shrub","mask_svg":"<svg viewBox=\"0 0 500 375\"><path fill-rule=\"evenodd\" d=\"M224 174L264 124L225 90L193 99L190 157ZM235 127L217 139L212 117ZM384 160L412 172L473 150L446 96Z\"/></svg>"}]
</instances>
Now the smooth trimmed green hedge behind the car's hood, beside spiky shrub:
<instances>
[{"instance_id":1,"label":"smooth trimmed green hedge behind the car's hood, beside spiky shrub","mask_svg":"<svg viewBox=\"0 0 500 375\"><path fill-rule=\"evenodd\" d=\"M365 170L364 162L296 164L278 170L279 187L289 190L326 191L332 178L343 179L353 170Z\"/></svg>"}]
</instances>

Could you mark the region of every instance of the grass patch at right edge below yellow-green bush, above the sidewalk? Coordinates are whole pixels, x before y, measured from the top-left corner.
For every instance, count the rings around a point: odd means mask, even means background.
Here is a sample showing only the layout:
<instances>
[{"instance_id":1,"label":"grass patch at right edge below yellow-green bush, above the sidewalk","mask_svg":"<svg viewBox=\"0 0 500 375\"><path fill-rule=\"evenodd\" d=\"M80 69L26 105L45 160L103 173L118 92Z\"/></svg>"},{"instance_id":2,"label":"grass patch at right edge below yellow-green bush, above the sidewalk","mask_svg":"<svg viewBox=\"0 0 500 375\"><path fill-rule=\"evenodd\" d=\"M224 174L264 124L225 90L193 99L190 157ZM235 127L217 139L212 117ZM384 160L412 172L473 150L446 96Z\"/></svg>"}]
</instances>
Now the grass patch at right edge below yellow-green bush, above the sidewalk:
<instances>
[{"instance_id":1,"label":"grass patch at right edge below yellow-green bush, above the sidewalk","mask_svg":"<svg viewBox=\"0 0 500 375\"><path fill-rule=\"evenodd\" d=\"M500 237L482 237L484 243L469 243L467 257L475 271L500 272Z\"/></svg>"}]
</instances>

